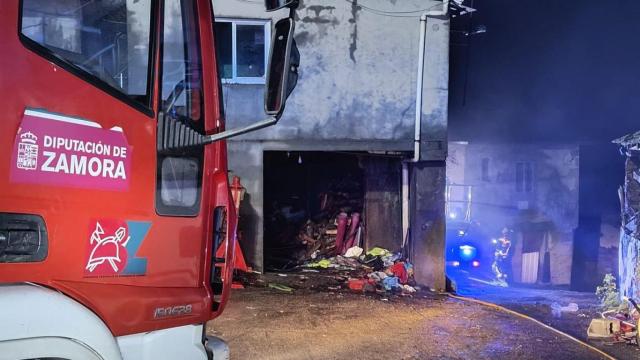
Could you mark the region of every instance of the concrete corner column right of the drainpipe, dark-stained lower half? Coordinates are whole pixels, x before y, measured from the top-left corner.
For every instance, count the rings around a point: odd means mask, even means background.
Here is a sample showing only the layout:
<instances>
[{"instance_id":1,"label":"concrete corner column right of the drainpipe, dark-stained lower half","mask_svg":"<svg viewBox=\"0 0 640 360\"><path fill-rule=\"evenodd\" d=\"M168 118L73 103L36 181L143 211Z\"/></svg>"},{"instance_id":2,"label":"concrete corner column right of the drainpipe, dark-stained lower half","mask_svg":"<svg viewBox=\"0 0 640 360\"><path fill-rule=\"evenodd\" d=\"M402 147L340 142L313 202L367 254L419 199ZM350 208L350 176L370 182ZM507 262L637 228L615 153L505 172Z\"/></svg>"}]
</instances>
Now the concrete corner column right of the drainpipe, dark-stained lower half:
<instances>
[{"instance_id":1,"label":"concrete corner column right of the drainpipe, dark-stained lower half","mask_svg":"<svg viewBox=\"0 0 640 360\"><path fill-rule=\"evenodd\" d=\"M449 19L429 18L426 25L420 161L411 169L411 250L416 281L444 290Z\"/></svg>"}]
</instances>

